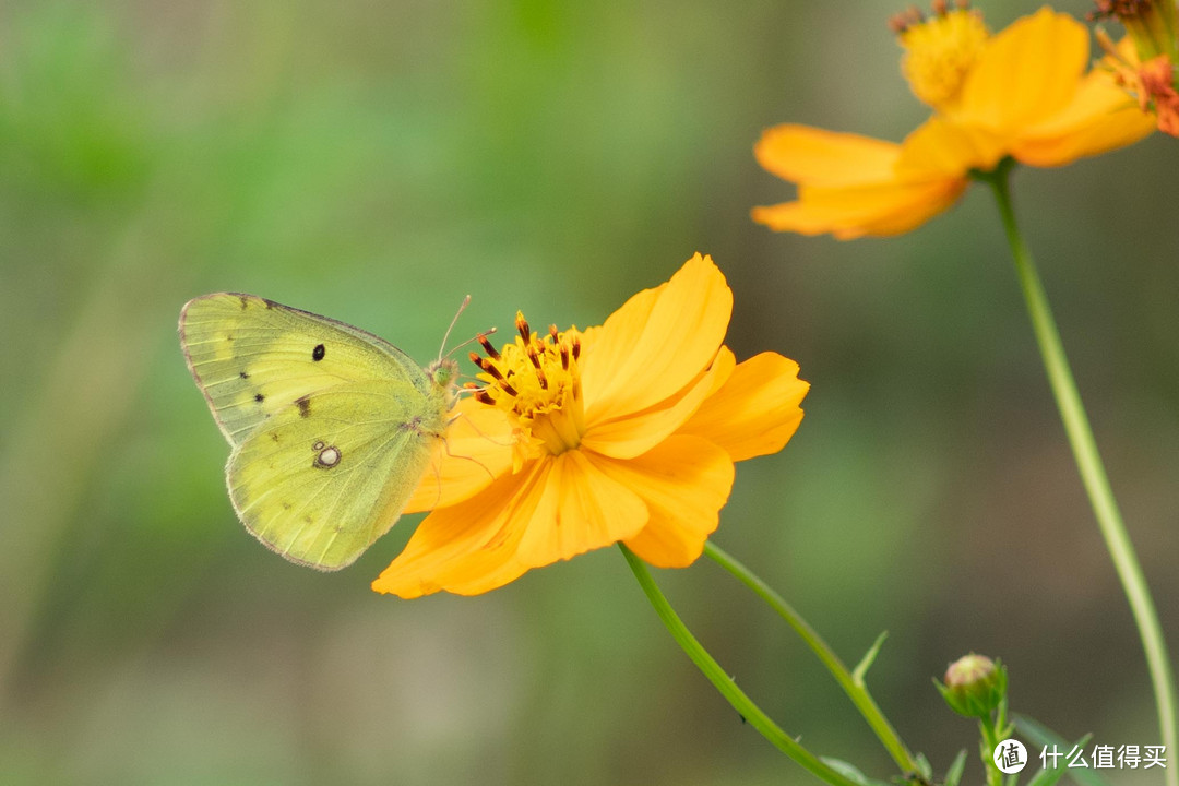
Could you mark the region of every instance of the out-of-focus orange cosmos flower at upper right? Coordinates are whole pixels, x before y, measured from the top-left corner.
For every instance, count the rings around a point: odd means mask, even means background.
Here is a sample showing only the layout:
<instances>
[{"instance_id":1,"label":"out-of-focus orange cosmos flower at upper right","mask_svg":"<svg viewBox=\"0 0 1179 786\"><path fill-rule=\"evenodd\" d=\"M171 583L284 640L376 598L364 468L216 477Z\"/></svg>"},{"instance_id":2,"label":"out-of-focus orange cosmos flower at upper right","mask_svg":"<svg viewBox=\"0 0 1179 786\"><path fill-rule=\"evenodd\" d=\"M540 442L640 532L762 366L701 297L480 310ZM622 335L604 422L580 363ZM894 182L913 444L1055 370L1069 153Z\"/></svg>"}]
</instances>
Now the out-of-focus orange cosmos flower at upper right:
<instances>
[{"instance_id":1,"label":"out-of-focus orange cosmos flower at upper right","mask_svg":"<svg viewBox=\"0 0 1179 786\"><path fill-rule=\"evenodd\" d=\"M1154 127L1119 86L1111 58L1087 70L1088 32L1067 14L1045 7L990 35L962 6L935 4L928 20L914 13L894 28L902 71L934 117L901 144L801 125L768 130L757 160L798 184L798 198L755 207L753 220L841 239L900 235L951 206L971 172L1005 157L1061 166Z\"/></svg>"}]
</instances>

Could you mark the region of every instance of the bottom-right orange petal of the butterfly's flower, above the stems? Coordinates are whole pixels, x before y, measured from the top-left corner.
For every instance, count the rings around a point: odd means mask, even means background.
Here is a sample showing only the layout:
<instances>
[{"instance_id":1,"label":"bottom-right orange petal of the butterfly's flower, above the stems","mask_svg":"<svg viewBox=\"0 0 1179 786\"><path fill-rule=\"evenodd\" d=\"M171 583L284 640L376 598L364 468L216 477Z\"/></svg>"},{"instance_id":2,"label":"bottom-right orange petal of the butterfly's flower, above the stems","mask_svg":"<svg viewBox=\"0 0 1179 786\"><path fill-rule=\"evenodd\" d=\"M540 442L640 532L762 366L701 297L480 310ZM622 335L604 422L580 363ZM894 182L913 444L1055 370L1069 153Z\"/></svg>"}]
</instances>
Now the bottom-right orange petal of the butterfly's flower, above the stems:
<instances>
[{"instance_id":1,"label":"bottom-right orange petal of the butterfly's flower, above the stems","mask_svg":"<svg viewBox=\"0 0 1179 786\"><path fill-rule=\"evenodd\" d=\"M699 437L673 436L639 458L600 467L647 506L646 527L626 540L631 550L660 568L683 568L700 556L733 484L733 462L724 450Z\"/></svg>"}]
</instances>

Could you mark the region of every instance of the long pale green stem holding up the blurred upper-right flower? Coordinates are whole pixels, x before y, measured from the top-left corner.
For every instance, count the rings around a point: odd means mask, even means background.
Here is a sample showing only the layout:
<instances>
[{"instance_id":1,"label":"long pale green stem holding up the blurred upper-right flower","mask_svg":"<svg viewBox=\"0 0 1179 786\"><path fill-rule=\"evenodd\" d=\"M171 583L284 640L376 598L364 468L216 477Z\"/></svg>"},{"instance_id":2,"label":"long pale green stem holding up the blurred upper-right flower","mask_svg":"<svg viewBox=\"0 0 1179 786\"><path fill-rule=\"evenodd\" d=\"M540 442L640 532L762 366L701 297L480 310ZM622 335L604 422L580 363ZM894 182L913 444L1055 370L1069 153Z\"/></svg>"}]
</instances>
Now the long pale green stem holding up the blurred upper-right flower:
<instances>
[{"instance_id":1,"label":"long pale green stem holding up the blurred upper-right flower","mask_svg":"<svg viewBox=\"0 0 1179 786\"><path fill-rule=\"evenodd\" d=\"M1085 414L1085 407L1081 404L1081 396L1076 391L1068 358L1065 356L1065 348L1060 342L1060 332L1056 330L1052 309L1048 306L1048 297L1045 295L1040 275L1032 260L1032 253L1023 243L1015 224L1015 212L1012 209L1010 189L1008 187L1010 169L1012 164L1008 160L993 173L979 176L979 179L990 185L995 202L999 204L999 214L1002 217L1007 242L1015 259L1015 272L1023 290L1023 299L1027 302L1028 313L1032 317L1036 342L1040 344L1040 355L1043 357L1045 370L1048 372L1048 382L1056 397L1056 407L1060 409L1060 417L1065 423L1065 431L1068 434L1068 442L1073 448L1073 457L1081 474L1081 481L1085 483L1085 490L1089 495L1089 502L1101 528L1101 535L1105 537L1106 548L1109 550L1126 599L1129 601L1134 622L1142 638L1146 663L1151 682L1154 686L1154 701L1159 709L1159 729L1162 744L1166 745L1168 753L1174 754L1179 751L1179 739L1177 739L1174 675L1171 671L1167 645L1162 638L1162 628L1159 625L1158 612L1154 609L1154 601L1151 599L1151 590L1146 584L1138 556L1134 554L1129 535L1126 533L1126 526L1121 521L1121 513L1118 510L1113 490L1109 488L1109 478L1106 477L1101 456L1098 454L1093 430L1089 428L1089 421ZM1164 772L1168 786L1179 786L1179 767L1167 767Z\"/></svg>"}]
</instances>

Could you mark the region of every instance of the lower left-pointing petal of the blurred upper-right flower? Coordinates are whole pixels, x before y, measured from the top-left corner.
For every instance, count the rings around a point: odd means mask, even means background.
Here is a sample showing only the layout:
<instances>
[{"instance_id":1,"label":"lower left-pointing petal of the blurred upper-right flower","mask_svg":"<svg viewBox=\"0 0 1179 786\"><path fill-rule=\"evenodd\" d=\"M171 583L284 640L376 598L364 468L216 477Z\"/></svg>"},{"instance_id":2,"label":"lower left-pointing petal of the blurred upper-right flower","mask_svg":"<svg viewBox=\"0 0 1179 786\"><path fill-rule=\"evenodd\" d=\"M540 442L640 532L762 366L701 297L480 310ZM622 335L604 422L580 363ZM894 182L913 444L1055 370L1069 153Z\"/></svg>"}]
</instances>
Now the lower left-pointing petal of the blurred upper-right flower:
<instances>
[{"instance_id":1,"label":"lower left-pointing petal of the blurred upper-right flower","mask_svg":"<svg viewBox=\"0 0 1179 786\"><path fill-rule=\"evenodd\" d=\"M968 184L964 177L938 177L844 189L799 186L797 202L755 207L752 217L777 232L830 232L841 240L902 235L957 202Z\"/></svg>"}]
</instances>

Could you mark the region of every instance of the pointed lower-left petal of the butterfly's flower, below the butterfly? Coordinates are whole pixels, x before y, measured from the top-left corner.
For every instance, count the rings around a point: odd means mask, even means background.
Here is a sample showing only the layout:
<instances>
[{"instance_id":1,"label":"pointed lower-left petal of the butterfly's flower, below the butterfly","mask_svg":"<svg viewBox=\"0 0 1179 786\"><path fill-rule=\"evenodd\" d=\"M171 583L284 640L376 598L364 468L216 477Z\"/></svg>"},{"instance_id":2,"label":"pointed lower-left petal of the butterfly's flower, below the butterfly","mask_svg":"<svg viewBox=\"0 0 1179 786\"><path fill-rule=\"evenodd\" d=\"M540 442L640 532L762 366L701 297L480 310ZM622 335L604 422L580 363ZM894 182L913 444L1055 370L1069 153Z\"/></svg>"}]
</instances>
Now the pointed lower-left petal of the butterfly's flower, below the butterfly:
<instances>
[{"instance_id":1,"label":"pointed lower-left petal of the butterfly's flower, below the butterfly","mask_svg":"<svg viewBox=\"0 0 1179 786\"><path fill-rule=\"evenodd\" d=\"M482 494L432 513L373 589L407 599L440 589L474 595L521 575L528 568L515 553L547 470L548 462L535 462L526 471L499 478Z\"/></svg>"}]
</instances>

